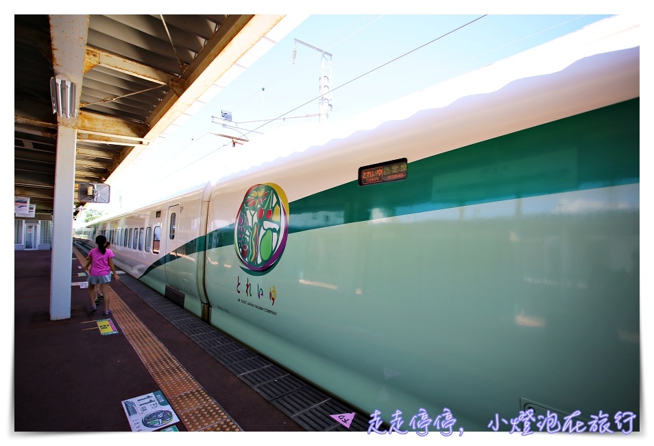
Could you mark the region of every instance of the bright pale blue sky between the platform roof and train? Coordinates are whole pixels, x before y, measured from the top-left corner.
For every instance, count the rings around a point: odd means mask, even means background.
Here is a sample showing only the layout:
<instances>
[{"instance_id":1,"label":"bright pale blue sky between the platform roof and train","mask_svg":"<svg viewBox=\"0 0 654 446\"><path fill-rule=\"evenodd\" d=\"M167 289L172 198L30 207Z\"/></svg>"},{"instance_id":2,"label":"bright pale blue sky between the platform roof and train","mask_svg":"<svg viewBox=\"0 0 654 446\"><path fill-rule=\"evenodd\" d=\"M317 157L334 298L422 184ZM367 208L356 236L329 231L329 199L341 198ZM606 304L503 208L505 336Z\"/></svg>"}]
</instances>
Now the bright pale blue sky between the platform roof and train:
<instances>
[{"instance_id":1,"label":"bright pale blue sky between the platform roof and train","mask_svg":"<svg viewBox=\"0 0 654 446\"><path fill-rule=\"evenodd\" d=\"M228 139L248 139L256 132L317 122L321 54L295 39L332 54L330 122L348 119L393 99L420 91L457 75L520 53L607 15L529 14L321 14L309 16L250 68L218 93L204 108L169 135L138 169L134 181L143 186L143 172L156 172L148 187L149 201L178 189L213 180L198 174ZM293 50L296 57L293 61ZM223 128L221 110L232 113L241 130ZM284 117L284 119L276 119ZM249 132L255 130L256 132ZM247 152L246 145L243 153ZM153 154L154 154L153 152ZM215 174L220 176L219 169ZM131 191L123 204L144 204L125 180L112 179L117 192ZM175 178L175 180L173 180ZM125 183L123 183L123 181ZM180 184L181 183L181 184ZM113 186L112 186L113 187ZM154 191L154 192L153 192ZM127 209L123 208L123 211Z\"/></svg>"}]
</instances>

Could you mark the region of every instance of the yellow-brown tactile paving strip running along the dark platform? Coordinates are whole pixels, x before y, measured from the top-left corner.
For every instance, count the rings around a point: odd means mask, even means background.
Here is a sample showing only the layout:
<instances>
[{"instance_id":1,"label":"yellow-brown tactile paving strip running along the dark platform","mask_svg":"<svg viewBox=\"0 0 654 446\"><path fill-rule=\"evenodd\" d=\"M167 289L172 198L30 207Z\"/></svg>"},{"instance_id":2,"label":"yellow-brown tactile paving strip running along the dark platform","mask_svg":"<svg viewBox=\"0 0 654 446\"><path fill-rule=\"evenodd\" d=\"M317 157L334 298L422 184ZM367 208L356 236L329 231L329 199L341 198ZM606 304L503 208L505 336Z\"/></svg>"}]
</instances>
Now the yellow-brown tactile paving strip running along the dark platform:
<instances>
[{"instance_id":1,"label":"yellow-brown tactile paving strip running along the dark platform","mask_svg":"<svg viewBox=\"0 0 654 446\"><path fill-rule=\"evenodd\" d=\"M73 251L84 265L84 255L75 248ZM111 287L108 287L107 294L112 318L118 322L125 338L128 338L141 357L186 429L191 432L241 431L237 423L204 391Z\"/></svg>"}]
</instances>

